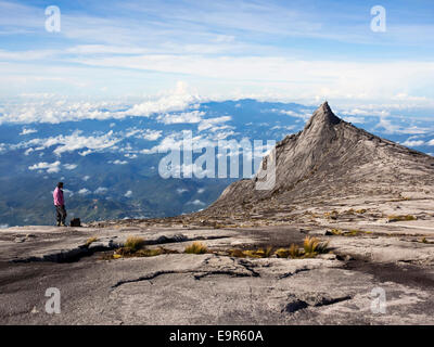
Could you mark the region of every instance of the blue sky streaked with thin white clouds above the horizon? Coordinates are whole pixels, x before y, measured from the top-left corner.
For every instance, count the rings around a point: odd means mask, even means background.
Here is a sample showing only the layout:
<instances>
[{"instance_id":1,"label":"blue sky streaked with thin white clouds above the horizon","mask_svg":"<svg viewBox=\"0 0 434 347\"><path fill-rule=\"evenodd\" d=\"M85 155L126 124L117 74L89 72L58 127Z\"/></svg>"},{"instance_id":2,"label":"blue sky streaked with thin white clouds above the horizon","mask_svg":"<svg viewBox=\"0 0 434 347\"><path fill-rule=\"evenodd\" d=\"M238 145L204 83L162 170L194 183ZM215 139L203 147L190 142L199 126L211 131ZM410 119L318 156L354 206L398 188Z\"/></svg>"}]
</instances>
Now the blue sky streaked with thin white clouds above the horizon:
<instances>
[{"instance_id":1,"label":"blue sky streaked with thin white clouds above the horizon","mask_svg":"<svg viewBox=\"0 0 434 347\"><path fill-rule=\"evenodd\" d=\"M61 31L44 28L48 5ZM370 28L373 5L386 31ZM434 110L434 2L3 1L0 98L208 99ZM176 87L177 86L177 87ZM1 111L1 110L0 110Z\"/></svg>"}]
</instances>

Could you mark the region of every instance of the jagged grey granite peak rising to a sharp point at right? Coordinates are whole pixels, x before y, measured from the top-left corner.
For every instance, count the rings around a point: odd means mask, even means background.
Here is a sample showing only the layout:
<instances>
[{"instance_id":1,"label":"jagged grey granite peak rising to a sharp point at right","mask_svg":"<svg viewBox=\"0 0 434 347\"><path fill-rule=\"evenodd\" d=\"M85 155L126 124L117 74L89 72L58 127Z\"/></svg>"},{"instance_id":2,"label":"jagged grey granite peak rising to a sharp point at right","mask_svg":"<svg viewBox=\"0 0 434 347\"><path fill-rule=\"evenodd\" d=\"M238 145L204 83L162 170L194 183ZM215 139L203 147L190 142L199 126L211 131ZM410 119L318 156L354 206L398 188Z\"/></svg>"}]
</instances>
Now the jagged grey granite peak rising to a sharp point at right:
<instances>
[{"instance_id":1,"label":"jagged grey granite peak rising to a sharp point at right","mask_svg":"<svg viewBox=\"0 0 434 347\"><path fill-rule=\"evenodd\" d=\"M369 200L431 191L434 184L434 157L344 121L327 102L315 111L303 131L277 143L276 158L270 154L264 162L275 159L276 184L271 189L257 190L257 176L234 182L202 214L278 213L297 201Z\"/></svg>"}]
</instances>

